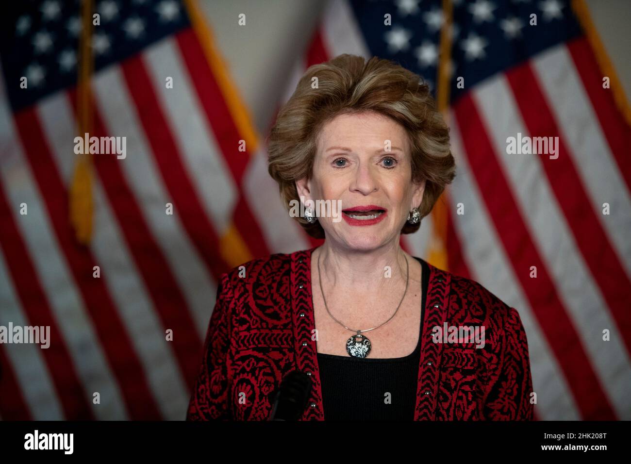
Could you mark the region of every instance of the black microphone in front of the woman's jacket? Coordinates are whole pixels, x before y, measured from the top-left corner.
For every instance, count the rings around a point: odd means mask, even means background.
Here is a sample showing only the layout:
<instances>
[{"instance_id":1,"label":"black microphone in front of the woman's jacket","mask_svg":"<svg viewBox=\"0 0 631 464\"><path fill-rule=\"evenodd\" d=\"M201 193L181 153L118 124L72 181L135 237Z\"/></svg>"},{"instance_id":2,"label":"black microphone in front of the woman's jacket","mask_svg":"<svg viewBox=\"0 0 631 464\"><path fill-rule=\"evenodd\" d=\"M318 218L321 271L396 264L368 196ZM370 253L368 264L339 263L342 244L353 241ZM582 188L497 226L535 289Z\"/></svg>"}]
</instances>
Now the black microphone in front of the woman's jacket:
<instances>
[{"instance_id":1,"label":"black microphone in front of the woman's jacket","mask_svg":"<svg viewBox=\"0 0 631 464\"><path fill-rule=\"evenodd\" d=\"M298 420L302 417L311 393L311 376L292 371L281 381L274 395L269 420Z\"/></svg>"}]
</instances>

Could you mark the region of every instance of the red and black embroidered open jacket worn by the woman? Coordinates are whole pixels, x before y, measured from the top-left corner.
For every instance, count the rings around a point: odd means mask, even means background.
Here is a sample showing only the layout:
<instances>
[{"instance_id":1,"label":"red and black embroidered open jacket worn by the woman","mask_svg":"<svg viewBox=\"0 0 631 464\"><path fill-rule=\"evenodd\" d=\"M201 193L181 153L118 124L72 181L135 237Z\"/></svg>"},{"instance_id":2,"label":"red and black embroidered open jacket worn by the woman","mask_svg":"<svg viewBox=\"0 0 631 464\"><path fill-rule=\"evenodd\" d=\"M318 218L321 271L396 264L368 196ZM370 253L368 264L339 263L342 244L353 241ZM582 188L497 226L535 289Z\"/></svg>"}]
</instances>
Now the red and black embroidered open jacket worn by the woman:
<instances>
[{"instance_id":1,"label":"red and black embroidered open jacket worn by the woman","mask_svg":"<svg viewBox=\"0 0 631 464\"><path fill-rule=\"evenodd\" d=\"M243 265L245 274L238 266L222 275L187 420L267 420L271 393L295 369L313 381L302 420L325 419L311 338L314 249L254 259ZM477 282L429 268L415 420L533 419L528 342L517 311ZM484 326L484 347L436 343L433 328L445 323Z\"/></svg>"}]
</instances>

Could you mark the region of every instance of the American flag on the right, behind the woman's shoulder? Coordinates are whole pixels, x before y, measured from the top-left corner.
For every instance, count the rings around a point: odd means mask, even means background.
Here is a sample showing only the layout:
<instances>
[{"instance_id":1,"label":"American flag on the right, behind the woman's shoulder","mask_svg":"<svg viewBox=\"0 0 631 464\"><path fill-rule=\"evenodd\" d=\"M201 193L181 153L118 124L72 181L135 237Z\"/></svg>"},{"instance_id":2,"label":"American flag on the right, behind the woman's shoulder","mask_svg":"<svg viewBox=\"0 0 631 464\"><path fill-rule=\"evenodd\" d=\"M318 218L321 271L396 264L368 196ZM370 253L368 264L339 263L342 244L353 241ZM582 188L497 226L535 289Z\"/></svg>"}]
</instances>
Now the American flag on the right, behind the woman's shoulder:
<instances>
[{"instance_id":1,"label":"American flag on the right, behind the woman's shoulder","mask_svg":"<svg viewBox=\"0 0 631 464\"><path fill-rule=\"evenodd\" d=\"M631 419L630 119L593 32L582 1L335 0L295 73L376 55L439 90L446 60L447 267L519 311L543 420ZM558 137L558 158L508 154L518 134ZM403 238L416 256L433 219Z\"/></svg>"}]
</instances>

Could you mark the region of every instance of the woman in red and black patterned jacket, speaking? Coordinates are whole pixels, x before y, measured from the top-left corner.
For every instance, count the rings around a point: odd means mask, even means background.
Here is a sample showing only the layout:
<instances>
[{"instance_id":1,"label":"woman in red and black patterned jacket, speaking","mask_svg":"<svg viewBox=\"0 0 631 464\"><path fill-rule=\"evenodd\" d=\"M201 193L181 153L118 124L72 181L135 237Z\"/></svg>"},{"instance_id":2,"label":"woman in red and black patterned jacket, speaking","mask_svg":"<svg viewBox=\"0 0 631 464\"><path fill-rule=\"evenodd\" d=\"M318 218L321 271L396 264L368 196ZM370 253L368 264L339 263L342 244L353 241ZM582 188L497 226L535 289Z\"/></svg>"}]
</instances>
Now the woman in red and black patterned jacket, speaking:
<instances>
[{"instance_id":1,"label":"woman in red and black patterned jacket, speaking","mask_svg":"<svg viewBox=\"0 0 631 464\"><path fill-rule=\"evenodd\" d=\"M419 76L377 57L311 66L268 153L290 213L325 200L341 215L306 208L295 219L322 246L222 276L187 419L269 419L296 370L312 381L302 420L532 419L517 311L399 246L454 177Z\"/></svg>"}]
</instances>

